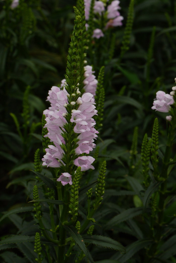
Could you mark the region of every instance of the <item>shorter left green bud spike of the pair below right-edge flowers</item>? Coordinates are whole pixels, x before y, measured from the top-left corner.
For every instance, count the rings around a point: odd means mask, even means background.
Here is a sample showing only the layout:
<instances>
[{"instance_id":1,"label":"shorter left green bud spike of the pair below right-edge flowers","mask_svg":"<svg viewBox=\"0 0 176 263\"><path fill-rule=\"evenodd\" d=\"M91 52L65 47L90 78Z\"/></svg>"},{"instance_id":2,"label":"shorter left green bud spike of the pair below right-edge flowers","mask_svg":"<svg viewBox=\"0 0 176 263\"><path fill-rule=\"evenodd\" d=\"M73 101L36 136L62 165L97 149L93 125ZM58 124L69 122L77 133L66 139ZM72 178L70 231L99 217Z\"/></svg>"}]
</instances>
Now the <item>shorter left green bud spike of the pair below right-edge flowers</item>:
<instances>
[{"instance_id":1,"label":"shorter left green bud spike of the pair below right-edge flowers","mask_svg":"<svg viewBox=\"0 0 176 263\"><path fill-rule=\"evenodd\" d=\"M144 135L144 139L141 147L141 160L143 166L143 175L144 175L144 185L145 187L149 186L150 176L148 174L149 171L149 160L150 160L150 150L151 150L151 141L148 140L147 134Z\"/></svg>"}]
</instances>

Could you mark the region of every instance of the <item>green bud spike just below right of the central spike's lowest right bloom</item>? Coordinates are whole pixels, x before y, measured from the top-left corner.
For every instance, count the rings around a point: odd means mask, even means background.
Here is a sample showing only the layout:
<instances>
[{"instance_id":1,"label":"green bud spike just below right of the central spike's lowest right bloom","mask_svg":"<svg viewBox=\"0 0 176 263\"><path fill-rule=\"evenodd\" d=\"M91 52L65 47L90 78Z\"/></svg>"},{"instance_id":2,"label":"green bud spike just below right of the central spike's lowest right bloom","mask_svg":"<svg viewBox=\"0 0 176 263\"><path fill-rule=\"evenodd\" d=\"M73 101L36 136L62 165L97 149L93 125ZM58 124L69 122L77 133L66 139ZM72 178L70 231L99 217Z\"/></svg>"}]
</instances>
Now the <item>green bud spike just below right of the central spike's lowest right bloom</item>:
<instances>
[{"instance_id":1,"label":"green bud spike just below right of the central spike's lowest right bloom","mask_svg":"<svg viewBox=\"0 0 176 263\"><path fill-rule=\"evenodd\" d=\"M105 172L106 172L106 161L103 161L100 167L99 175L97 178L98 183L96 184L95 188L95 203L94 203L94 208L95 206L99 206L101 204L101 200L103 199L102 196L105 193Z\"/></svg>"}]
</instances>

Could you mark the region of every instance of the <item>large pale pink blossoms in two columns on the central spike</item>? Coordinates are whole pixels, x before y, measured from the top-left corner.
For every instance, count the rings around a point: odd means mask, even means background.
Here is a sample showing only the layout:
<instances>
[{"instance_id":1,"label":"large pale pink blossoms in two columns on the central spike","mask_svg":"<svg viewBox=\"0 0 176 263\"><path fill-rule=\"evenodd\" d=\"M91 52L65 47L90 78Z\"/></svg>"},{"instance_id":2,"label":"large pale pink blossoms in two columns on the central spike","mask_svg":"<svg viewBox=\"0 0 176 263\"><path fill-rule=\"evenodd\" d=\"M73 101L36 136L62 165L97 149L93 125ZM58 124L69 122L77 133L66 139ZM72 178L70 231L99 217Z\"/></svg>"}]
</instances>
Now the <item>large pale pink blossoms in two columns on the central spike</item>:
<instances>
[{"instance_id":1,"label":"large pale pink blossoms in two columns on the central spike","mask_svg":"<svg viewBox=\"0 0 176 263\"><path fill-rule=\"evenodd\" d=\"M65 80L62 80L62 86L64 83ZM65 87L61 90L60 88L53 86L48 94L49 96L47 97L47 100L51 103L51 107L43 112L43 114L46 115L46 124L44 128L48 129L48 134L45 135L45 137L48 137L54 145L48 145L48 148L45 149L46 154L42 158L42 165L47 165L47 167L60 167L61 165L65 165L61 160L64 151L60 145L65 144L62 132L65 131L63 127L64 124L67 123L65 116L67 114L66 107L68 104L68 93ZM89 92L84 93L82 97L77 99L76 103L79 107L77 110L72 110L70 119L70 122L75 123L74 132L78 134L77 138L79 139L75 152L78 155L84 153L89 154L90 151L95 148L94 140L97 138L98 133L94 128L94 125L96 124L95 120L92 118L94 115L97 115L93 95ZM71 102L71 105L74 104L75 102L73 104ZM62 127L62 130L60 127ZM88 169L94 169L94 166L91 165L94 160L95 159L91 156L79 156L74 160L74 164L76 166L81 166L81 171L86 171ZM63 173L61 176L70 178L71 175L67 176ZM65 182L71 184L71 178L68 178L65 179Z\"/></svg>"}]
</instances>

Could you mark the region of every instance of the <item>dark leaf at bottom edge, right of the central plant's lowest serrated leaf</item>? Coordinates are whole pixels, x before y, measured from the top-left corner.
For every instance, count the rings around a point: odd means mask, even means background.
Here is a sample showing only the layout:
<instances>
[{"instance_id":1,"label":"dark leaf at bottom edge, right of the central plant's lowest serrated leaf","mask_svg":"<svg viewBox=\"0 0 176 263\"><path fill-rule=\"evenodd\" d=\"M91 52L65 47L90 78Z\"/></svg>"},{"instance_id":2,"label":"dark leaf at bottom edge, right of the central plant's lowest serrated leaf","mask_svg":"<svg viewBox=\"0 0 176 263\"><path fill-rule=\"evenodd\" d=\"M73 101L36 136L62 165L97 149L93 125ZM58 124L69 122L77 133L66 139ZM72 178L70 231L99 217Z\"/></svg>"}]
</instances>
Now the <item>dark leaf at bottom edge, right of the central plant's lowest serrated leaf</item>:
<instances>
[{"instance_id":1,"label":"dark leaf at bottom edge, right of the central plant's lowest serrated leaf","mask_svg":"<svg viewBox=\"0 0 176 263\"><path fill-rule=\"evenodd\" d=\"M121 263L125 263L128 259L130 259L140 249L142 249L146 246L149 246L152 243L153 243L153 240L150 240L150 239L141 239L141 240L135 241L126 248L126 254L125 255L119 254L119 256L116 259L117 260L120 259Z\"/></svg>"}]
</instances>

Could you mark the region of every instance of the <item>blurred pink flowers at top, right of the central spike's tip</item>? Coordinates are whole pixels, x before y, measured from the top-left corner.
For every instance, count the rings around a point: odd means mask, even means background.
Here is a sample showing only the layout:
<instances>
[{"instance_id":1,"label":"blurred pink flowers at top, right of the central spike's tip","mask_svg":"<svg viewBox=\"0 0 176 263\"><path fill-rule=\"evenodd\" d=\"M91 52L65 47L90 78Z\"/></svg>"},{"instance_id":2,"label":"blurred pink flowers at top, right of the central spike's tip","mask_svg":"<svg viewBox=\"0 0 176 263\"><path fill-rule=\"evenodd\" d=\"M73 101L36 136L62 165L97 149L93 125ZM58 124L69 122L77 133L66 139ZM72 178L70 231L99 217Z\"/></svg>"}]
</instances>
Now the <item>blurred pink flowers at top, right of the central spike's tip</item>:
<instances>
[{"instance_id":1,"label":"blurred pink flowers at top, right of the central spike's tip","mask_svg":"<svg viewBox=\"0 0 176 263\"><path fill-rule=\"evenodd\" d=\"M107 1L108 2L108 1ZM91 0L84 0L85 4L85 18L88 21L89 20L89 13L90 13L90 3ZM107 11L105 12L105 6L101 0L96 1L94 4L94 13L99 14L101 16L102 14L106 14L107 19L109 19L106 23L105 30L108 29L109 27L118 27L122 26L122 20L124 19L122 16L120 16L119 13L119 6L120 1L119 0L114 0L112 1L108 6L107 6ZM86 23L86 30L89 27L89 25ZM92 37L99 39L100 37L104 37L104 33L100 28L96 28L93 31Z\"/></svg>"}]
</instances>

